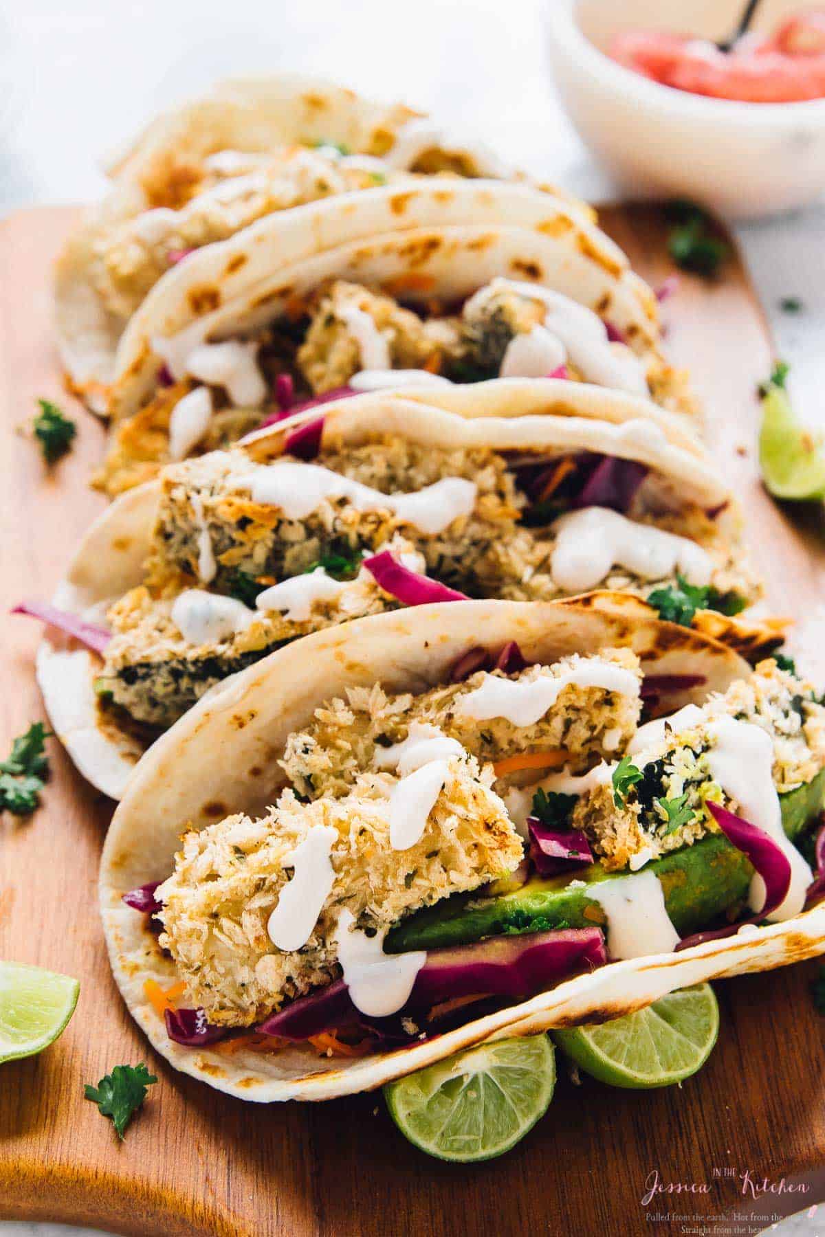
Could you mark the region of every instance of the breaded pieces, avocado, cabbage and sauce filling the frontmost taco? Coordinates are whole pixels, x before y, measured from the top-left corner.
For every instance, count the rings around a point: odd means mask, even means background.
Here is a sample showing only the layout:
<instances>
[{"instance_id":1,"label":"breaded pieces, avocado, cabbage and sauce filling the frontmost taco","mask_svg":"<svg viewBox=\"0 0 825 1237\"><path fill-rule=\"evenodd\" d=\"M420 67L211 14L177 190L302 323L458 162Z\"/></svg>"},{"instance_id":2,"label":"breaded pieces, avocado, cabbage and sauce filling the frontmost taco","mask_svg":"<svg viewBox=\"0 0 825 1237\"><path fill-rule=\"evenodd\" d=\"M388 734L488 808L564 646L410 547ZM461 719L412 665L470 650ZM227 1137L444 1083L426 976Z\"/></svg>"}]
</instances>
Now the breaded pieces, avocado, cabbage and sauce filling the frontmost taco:
<instances>
[{"instance_id":1,"label":"breaded pieces, avocado, cabbage and sauce filling the frontmost taco","mask_svg":"<svg viewBox=\"0 0 825 1237\"><path fill-rule=\"evenodd\" d=\"M735 933L748 909L801 912L794 842L825 790L809 683L768 659L643 722L630 649L471 652L458 682L318 708L260 819L184 834L168 878L126 893L177 970L157 1006L171 1039L353 1055Z\"/></svg>"}]
</instances>

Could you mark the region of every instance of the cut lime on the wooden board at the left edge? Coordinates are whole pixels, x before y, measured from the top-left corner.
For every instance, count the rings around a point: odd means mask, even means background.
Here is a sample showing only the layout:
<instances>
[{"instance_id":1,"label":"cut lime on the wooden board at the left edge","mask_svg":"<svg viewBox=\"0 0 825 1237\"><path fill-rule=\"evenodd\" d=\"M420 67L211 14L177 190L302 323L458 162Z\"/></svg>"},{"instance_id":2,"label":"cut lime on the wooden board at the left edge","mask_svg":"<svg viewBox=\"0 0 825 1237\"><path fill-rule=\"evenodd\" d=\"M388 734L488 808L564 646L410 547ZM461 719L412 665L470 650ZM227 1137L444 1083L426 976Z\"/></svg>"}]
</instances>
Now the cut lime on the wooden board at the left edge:
<instances>
[{"instance_id":1,"label":"cut lime on the wooden board at the left edge","mask_svg":"<svg viewBox=\"0 0 825 1237\"><path fill-rule=\"evenodd\" d=\"M53 1044L74 1013L79 991L71 975L0 962L0 1065Z\"/></svg>"}]
</instances>

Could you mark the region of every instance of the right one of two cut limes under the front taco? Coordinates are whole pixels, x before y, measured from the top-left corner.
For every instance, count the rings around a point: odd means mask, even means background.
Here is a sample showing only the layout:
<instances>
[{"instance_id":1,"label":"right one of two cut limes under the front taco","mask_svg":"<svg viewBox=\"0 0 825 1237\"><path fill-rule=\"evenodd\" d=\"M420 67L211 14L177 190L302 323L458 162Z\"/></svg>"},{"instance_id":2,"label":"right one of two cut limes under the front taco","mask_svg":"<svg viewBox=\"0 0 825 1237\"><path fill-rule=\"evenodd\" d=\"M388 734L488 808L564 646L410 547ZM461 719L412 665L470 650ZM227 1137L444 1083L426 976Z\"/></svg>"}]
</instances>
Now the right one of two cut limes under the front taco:
<instances>
[{"instance_id":1,"label":"right one of two cut limes under the front taco","mask_svg":"<svg viewBox=\"0 0 825 1237\"><path fill-rule=\"evenodd\" d=\"M638 1013L552 1034L585 1074L601 1082L670 1086L690 1077L710 1056L719 1034L719 1006L711 986L699 983L670 992Z\"/></svg>"}]
</instances>

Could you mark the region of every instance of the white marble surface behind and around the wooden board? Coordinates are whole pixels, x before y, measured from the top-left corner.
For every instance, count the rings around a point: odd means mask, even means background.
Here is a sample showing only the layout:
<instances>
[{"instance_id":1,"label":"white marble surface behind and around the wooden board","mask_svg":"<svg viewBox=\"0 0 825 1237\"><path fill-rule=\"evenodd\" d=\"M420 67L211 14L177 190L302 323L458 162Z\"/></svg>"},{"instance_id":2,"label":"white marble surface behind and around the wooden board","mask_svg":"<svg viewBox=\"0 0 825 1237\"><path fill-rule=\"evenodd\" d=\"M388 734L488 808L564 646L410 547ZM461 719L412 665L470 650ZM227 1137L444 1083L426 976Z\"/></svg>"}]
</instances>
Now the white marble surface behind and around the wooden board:
<instances>
[{"instance_id":1,"label":"white marble surface behind and around the wooden board","mask_svg":"<svg viewBox=\"0 0 825 1237\"><path fill-rule=\"evenodd\" d=\"M610 183L553 96L545 2L553 0L0 0L0 214L95 197L95 160L158 108L216 77L272 69L403 98L605 200ZM797 404L825 426L825 207L737 234L778 353L792 362ZM788 296L804 302L803 314L779 312ZM792 1231L813 1237L825 1226L782 1226ZM0 1237L68 1232L80 1230L0 1223Z\"/></svg>"}]
</instances>

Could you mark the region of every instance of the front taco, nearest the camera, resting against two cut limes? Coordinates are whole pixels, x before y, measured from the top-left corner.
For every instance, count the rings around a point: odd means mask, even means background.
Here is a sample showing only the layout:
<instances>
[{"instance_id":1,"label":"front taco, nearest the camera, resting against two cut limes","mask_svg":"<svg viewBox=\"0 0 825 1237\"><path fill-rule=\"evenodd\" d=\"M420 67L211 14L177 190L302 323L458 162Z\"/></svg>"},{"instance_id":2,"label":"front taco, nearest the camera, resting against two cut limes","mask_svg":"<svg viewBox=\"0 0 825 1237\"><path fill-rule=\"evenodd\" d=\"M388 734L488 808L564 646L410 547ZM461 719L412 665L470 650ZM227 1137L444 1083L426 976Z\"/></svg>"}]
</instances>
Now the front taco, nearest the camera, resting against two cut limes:
<instances>
[{"instance_id":1,"label":"front taco, nearest the camera, resting against two cut limes","mask_svg":"<svg viewBox=\"0 0 825 1237\"><path fill-rule=\"evenodd\" d=\"M631 597L357 620L141 762L100 871L115 978L219 1090L380 1086L825 951L795 845L824 771L810 683Z\"/></svg>"}]
</instances>

